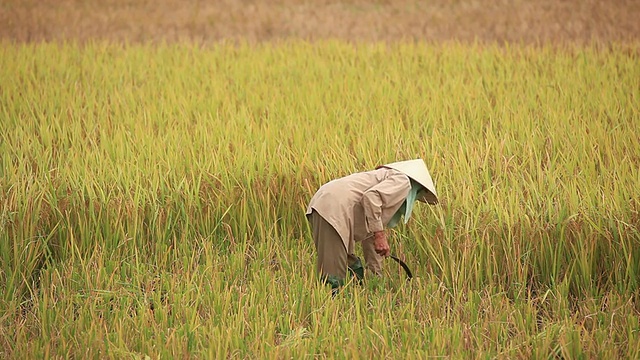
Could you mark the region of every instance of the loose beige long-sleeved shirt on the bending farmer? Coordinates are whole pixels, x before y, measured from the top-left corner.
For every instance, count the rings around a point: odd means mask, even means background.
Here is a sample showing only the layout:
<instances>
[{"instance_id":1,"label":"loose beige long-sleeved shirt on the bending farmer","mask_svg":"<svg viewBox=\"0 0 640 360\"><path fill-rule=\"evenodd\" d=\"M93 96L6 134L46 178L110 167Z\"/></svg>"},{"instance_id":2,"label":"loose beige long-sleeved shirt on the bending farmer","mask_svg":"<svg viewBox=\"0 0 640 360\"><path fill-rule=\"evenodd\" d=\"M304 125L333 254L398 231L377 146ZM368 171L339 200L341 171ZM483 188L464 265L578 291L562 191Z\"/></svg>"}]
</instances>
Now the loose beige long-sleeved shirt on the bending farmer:
<instances>
[{"instance_id":1,"label":"loose beige long-sleeved shirt on the bending farmer","mask_svg":"<svg viewBox=\"0 0 640 360\"><path fill-rule=\"evenodd\" d=\"M331 224L346 249L382 231L409 194L411 182L404 173L387 168L332 180L311 198L307 215L315 210Z\"/></svg>"}]
</instances>

